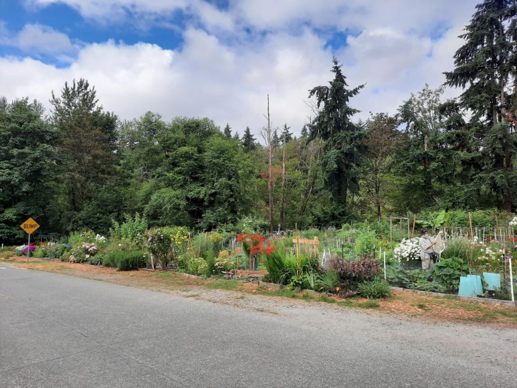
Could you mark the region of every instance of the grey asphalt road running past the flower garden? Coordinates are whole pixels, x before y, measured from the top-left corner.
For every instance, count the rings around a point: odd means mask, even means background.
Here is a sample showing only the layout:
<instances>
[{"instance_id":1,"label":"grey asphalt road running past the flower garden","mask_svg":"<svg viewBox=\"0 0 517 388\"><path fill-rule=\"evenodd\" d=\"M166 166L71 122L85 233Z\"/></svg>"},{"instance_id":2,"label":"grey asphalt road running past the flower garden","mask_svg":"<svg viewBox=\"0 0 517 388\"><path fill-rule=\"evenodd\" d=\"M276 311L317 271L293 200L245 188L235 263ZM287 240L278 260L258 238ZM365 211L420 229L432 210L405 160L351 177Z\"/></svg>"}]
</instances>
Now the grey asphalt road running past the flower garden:
<instances>
[{"instance_id":1,"label":"grey asphalt road running past the flower garden","mask_svg":"<svg viewBox=\"0 0 517 388\"><path fill-rule=\"evenodd\" d=\"M305 306L290 318L0 263L0 387L517 387L515 330Z\"/></svg>"}]
</instances>

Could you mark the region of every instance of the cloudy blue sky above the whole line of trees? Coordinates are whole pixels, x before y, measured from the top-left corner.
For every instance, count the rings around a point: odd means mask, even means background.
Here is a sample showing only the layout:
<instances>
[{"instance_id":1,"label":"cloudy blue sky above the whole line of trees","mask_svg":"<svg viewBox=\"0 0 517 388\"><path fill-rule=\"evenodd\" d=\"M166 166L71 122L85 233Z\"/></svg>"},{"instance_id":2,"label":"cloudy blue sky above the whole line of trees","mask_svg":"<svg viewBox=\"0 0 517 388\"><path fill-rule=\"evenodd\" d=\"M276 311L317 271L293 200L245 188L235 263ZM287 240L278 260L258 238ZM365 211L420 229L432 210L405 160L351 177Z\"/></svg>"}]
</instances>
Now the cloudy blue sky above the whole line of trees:
<instances>
[{"instance_id":1,"label":"cloudy blue sky above the whole line of trees","mask_svg":"<svg viewBox=\"0 0 517 388\"><path fill-rule=\"evenodd\" d=\"M0 0L0 93L48 107L83 77L120 118L207 116L241 133L264 125L269 94L273 122L299 132L332 55L351 86L367 84L352 101L361 118L438 87L476 3Z\"/></svg>"}]
</instances>

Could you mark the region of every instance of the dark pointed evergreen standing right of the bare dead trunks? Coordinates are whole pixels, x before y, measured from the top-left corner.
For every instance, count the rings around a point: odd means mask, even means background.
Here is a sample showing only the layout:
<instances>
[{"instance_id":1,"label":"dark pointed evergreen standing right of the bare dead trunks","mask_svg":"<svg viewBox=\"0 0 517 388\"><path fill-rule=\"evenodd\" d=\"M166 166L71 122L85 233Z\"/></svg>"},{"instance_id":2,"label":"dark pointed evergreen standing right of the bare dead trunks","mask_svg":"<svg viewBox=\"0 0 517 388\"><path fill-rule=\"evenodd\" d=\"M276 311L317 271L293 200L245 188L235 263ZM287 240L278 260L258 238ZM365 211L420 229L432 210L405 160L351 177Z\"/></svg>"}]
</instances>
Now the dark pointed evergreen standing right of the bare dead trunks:
<instances>
[{"instance_id":1,"label":"dark pointed evergreen standing right of the bare dead trunks","mask_svg":"<svg viewBox=\"0 0 517 388\"><path fill-rule=\"evenodd\" d=\"M366 130L351 121L359 111L348 103L364 85L348 89L338 59L334 57L332 62L331 71L335 76L330 86L316 86L309 91L309 98L315 96L316 106L321 108L311 126L309 140L316 137L325 140L321 156L325 184L334 203L346 206L348 194L355 195L359 191L361 156L367 148ZM343 217L343 210L343 207L338 208L334 213Z\"/></svg>"}]
</instances>

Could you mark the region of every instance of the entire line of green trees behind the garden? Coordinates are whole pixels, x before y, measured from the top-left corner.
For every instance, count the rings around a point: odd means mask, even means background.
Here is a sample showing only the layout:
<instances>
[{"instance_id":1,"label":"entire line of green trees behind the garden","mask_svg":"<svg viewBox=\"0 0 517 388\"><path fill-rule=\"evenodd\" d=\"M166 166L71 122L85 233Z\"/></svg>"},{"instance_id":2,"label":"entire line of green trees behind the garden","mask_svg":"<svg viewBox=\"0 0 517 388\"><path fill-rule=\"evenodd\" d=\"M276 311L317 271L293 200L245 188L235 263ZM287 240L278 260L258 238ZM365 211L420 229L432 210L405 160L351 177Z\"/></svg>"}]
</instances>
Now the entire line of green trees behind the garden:
<instances>
[{"instance_id":1,"label":"entire line of green trees behind the garden","mask_svg":"<svg viewBox=\"0 0 517 388\"><path fill-rule=\"evenodd\" d=\"M334 226L422 210L512 211L517 198L517 0L476 7L444 85L427 84L397 112L358 113L333 59L333 79L307 95L313 117L293 135L267 121L220 129L209 118L119 120L87 80L29 98L0 98L0 240L18 241L32 216L41 233L107 232L139 213L149 225L238 229ZM462 88L444 99L445 86ZM266 109L266 106L265 106ZM258 128L257 128L258 129ZM242 131L242 136L239 135ZM296 131L298 132L298 131Z\"/></svg>"}]
</instances>

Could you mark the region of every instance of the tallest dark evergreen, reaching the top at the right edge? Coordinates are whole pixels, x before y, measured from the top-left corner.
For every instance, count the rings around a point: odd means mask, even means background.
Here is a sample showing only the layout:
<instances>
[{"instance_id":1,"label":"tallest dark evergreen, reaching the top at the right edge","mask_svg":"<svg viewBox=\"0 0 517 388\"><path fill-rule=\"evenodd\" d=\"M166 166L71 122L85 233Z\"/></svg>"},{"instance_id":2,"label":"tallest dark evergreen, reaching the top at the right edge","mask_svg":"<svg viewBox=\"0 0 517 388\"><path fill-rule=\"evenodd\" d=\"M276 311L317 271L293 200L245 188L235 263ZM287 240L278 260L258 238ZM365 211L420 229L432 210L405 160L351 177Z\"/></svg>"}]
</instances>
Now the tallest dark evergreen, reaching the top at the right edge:
<instances>
[{"instance_id":1,"label":"tallest dark evergreen, reaching the top at the right edge","mask_svg":"<svg viewBox=\"0 0 517 388\"><path fill-rule=\"evenodd\" d=\"M511 211L517 188L517 1L485 0L476 8L446 84L464 88L460 105L472 112L470 125L479 136L483 166L472 184L493 190Z\"/></svg>"}]
</instances>

